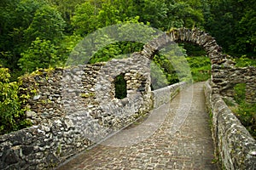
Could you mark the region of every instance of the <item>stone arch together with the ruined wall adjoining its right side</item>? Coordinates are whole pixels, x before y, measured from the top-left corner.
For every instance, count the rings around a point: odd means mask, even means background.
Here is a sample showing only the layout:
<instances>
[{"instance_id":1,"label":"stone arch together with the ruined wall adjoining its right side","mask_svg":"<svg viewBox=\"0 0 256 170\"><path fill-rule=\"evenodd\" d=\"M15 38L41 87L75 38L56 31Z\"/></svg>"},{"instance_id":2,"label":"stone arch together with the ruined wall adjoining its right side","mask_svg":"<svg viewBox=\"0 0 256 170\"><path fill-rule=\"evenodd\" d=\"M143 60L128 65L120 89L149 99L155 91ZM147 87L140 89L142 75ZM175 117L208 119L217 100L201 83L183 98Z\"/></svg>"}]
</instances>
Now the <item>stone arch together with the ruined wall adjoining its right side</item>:
<instances>
[{"instance_id":1,"label":"stone arch together with the ruined wall adjoining its right side","mask_svg":"<svg viewBox=\"0 0 256 170\"><path fill-rule=\"evenodd\" d=\"M252 66L235 67L236 63L229 59L230 56L222 54L221 47L218 46L214 37L211 37L205 31L197 28L193 30L187 28L174 29L148 42L144 46L142 54L148 59L152 59L155 52L172 42L195 43L207 52L207 56L212 62L212 93L230 97L234 94L233 88L236 83L244 82L247 85L247 102L256 102L256 68Z\"/></svg>"}]
</instances>

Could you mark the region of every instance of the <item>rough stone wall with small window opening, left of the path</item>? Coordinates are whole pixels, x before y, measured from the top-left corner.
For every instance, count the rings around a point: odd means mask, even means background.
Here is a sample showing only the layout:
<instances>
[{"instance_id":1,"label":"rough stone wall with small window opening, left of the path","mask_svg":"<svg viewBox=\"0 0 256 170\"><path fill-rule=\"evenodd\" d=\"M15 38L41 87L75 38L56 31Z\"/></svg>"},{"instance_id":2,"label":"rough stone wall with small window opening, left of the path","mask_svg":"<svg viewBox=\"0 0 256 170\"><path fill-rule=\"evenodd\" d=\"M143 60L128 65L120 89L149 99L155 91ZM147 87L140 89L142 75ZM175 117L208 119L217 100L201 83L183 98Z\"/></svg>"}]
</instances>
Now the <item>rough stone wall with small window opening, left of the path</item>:
<instances>
[{"instance_id":1,"label":"rough stone wall with small window opening, left of the path","mask_svg":"<svg viewBox=\"0 0 256 170\"><path fill-rule=\"evenodd\" d=\"M106 138L152 108L149 59L129 59L38 71L23 79L32 127L0 137L0 169L44 169ZM127 97L114 98L125 75Z\"/></svg>"}]
</instances>

